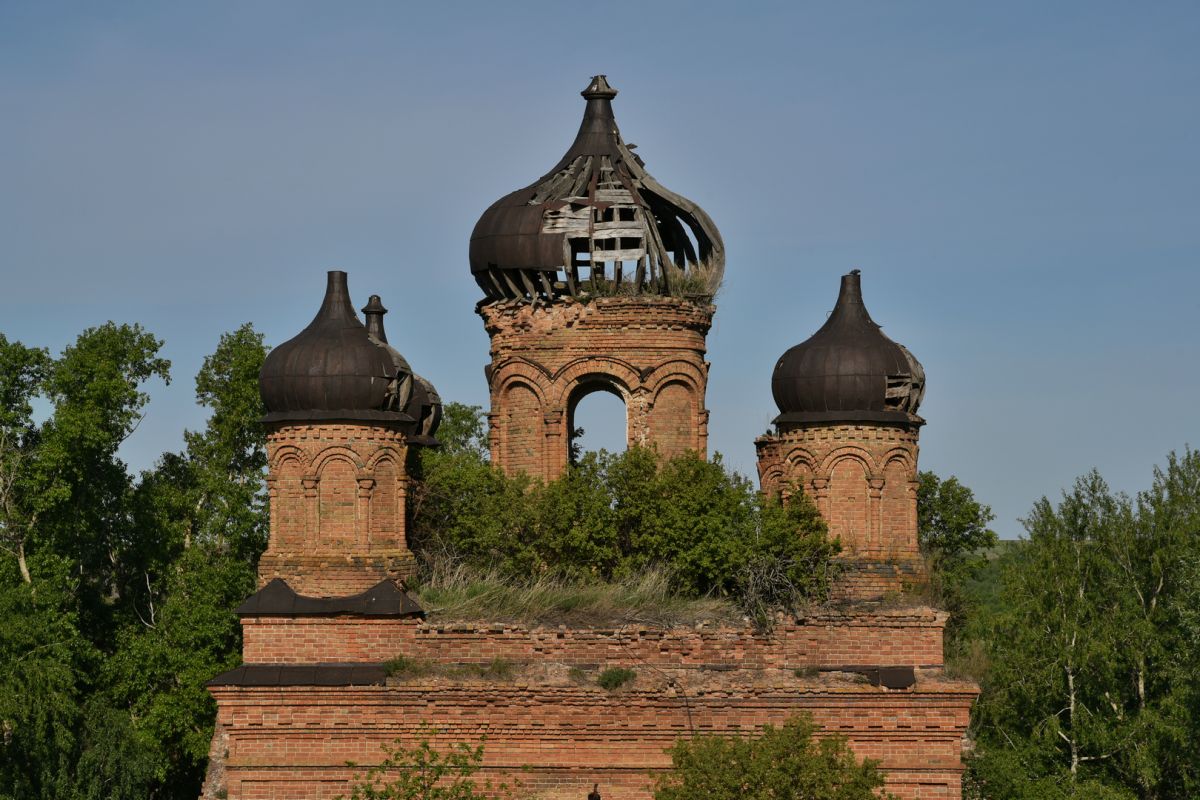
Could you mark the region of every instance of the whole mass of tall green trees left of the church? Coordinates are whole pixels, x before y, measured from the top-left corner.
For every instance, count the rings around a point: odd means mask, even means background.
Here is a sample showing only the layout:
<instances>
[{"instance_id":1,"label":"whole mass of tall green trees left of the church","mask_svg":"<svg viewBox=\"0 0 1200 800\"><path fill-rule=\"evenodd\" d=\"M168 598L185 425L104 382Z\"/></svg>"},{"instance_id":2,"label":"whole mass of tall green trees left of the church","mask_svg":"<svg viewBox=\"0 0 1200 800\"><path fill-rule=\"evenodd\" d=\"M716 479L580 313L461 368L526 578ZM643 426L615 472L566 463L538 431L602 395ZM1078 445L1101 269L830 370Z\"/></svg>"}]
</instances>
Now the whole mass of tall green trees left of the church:
<instances>
[{"instance_id":1,"label":"whole mass of tall green trees left of the church","mask_svg":"<svg viewBox=\"0 0 1200 800\"><path fill-rule=\"evenodd\" d=\"M0 798L199 792L204 682L239 658L232 609L265 543L264 348L222 337L197 378L206 428L136 476L118 451L169 380L161 344L115 323L58 357L0 336Z\"/></svg>"}]
</instances>

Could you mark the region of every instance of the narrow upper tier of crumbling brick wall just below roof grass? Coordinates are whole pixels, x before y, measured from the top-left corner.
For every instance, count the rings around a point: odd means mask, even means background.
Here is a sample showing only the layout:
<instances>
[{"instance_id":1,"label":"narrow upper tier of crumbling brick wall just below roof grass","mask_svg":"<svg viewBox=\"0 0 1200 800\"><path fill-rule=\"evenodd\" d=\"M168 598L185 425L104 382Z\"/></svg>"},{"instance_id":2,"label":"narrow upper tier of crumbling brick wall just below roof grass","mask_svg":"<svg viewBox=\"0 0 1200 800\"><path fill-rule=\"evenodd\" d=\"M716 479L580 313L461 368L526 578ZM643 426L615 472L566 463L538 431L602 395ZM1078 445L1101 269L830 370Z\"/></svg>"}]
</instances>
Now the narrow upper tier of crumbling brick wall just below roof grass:
<instances>
[{"instance_id":1,"label":"narrow upper tier of crumbling brick wall just below roof grass","mask_svg":"<svg viewBox=\"0 0 1200 800\"><path fill-rule=\"evenodd\" d=\"M929 608L826 614L780 624L770 636L714 627L589 630L444 624L365 618L242 619L250 663L379 662L412 658L487 663L551 660L565 664L779 668L942 663L946 614Z\"/></svg>"}]
</instances>

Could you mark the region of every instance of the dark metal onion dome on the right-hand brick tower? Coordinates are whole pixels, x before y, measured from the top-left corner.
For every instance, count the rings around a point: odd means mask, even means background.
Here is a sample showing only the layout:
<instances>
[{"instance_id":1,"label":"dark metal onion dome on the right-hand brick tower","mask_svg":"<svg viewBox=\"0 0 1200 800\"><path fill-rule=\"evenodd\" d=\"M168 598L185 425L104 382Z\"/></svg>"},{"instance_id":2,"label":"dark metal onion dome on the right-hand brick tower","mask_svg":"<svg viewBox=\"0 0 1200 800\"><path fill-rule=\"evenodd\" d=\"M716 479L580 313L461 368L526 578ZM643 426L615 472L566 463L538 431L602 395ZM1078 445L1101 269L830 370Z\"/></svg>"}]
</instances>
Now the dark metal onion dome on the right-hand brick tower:
<instances>
[{"instance_id":1,"label":"dark metal onion dome on the right-hand brick tower","mask_svg":"<svg viewBox=\"0 0 1200 800\"><path fill-rule=\"evenodd\" d=\"M859 271L841 276L838 305L808 341L780 357L770 379L776 425L809 421L920 423L920 362L880 330L863 305Z\"/></svg>"}]
</instances>

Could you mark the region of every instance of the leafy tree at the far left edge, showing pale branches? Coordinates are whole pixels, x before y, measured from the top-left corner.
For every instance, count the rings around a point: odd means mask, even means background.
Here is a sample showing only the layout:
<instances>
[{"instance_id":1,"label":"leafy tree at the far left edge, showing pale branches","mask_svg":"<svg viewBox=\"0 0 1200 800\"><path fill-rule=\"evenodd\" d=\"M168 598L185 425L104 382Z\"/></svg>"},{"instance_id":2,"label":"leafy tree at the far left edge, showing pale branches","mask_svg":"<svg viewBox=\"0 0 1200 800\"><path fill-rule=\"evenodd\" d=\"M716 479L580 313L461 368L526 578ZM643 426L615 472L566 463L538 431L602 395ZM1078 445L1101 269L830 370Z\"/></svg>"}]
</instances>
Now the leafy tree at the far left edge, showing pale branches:
<instances>
[{"instance_id":1,"label":"leafy tree at the far left edge, showing pale branches","mask_svg":"<svg viewBox=\"0 0 1200 800\"><path fill-rule=\"evenodd\" d=\"M71 798L84 698L127 608L138 542L116 451L167 380L137 325L84 331L58 359L0 337L0 794ZM43 421L34 402L48 405Z\"/></svg>"}]
</instances>

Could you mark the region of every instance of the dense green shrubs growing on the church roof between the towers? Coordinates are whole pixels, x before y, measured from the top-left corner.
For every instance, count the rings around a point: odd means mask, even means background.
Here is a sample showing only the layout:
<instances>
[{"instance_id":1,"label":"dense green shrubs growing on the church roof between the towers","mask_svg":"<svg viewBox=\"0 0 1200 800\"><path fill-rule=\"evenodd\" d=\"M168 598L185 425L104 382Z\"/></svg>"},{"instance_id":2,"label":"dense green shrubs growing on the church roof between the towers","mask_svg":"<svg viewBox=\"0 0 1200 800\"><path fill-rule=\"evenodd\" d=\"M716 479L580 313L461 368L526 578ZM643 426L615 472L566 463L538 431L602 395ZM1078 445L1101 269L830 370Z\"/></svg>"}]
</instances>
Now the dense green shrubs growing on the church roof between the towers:
<instances>
[{"instance_id":1,"label":"dense green shrubs growing on the church roof between the towers","mask_svg":"<svg viewBox=\"0 0 1200 800\"><path fill-rule=\"evenodd\" d=\"M424 451L415 470L418 554L521 578L613 581L666 567L677 591L734 597L756 618L828 589L836 546L812 503L763 498L720 456L589 452L542 485L487 463L476 409L450 404L446 419L445 446Z\"/></svg>"}]
</instances>

